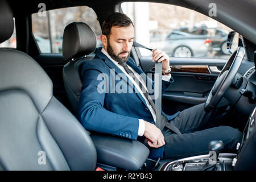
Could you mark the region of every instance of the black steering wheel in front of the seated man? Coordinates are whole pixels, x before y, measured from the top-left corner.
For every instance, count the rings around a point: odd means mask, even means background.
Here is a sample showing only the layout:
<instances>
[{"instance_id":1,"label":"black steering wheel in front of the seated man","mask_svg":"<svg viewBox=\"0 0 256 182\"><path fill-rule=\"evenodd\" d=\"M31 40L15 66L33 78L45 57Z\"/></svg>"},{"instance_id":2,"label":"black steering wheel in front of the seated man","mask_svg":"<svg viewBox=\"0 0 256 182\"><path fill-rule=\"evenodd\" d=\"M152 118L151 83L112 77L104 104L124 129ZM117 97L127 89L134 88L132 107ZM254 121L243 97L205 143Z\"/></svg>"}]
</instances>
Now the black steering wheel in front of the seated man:
<instances>
[{"instance_id":1,"label":"black steering wheel in front of the seated man","mask_svg":"<svg viewBox=\"0 0 256 182\"><path fill-rule=\"evenodd\" d=\"M212 90L210 90L210 93L207 97L207 101L204 105L204 110L206 112L216 108L218 103L221 101L226 90L234 81L244 56L245 49L243 47L238 47L237 50L234 51L229 57L229 60L224 65L220 75L218 75L217 80L215 81Z\"/></svg>"}]
</instances>

